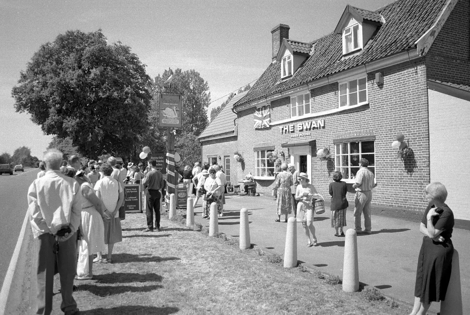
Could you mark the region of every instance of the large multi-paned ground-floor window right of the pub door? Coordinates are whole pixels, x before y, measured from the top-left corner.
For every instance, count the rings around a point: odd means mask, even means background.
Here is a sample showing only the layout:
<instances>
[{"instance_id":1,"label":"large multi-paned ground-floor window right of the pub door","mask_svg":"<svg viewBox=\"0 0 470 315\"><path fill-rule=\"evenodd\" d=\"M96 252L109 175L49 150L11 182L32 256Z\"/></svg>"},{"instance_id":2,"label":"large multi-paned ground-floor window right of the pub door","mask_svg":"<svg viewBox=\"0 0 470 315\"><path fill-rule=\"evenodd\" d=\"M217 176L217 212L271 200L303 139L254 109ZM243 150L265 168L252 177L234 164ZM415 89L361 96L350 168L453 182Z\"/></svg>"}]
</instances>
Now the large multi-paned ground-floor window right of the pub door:
<instances>
[{"instance_id":1,"label":"large multi-paned ground-floor window right of the pub door","mask_svg":"<svg viewBox=\"0 0 470 315\"><path fill-rule=\"evenodd\" d=\"M335 147L335 168L344 179L355 179L359 170L359 160L369 161L368 169L376 174L374 141L353 141L337 143Z\"/></svg>"}]
</instances>

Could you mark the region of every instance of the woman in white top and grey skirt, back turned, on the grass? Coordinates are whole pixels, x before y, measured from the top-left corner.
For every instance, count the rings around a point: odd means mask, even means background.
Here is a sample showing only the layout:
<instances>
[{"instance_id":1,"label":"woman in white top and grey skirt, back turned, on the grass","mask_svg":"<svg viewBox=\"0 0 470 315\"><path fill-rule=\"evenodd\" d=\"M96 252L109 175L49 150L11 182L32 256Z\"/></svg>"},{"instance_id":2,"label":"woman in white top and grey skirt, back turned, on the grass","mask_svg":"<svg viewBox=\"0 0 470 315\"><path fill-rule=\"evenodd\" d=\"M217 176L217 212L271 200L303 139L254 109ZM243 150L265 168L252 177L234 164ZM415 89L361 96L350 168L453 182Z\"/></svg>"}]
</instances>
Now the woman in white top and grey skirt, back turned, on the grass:
<instances>
[{"instance_id":1,"label":"woman in white top and grey skirt, back turned, on the grass","mask_svg":"<svg viewBox=\"0 0 470 315\"><path fill-rule=\"evenodd\" d=\"M106 209L111 212L110 218L104 218L104 243L108 244L108 257L102 259L102 253L98 253L97 261L111 263L114 244L122 242L121 219L119 208L124 201L124 189L121 183L111 177L113 168L110 163L103 163L101 171L104 178L98 180L94 191L102 200Z\"/></svg>"}]
</instances>

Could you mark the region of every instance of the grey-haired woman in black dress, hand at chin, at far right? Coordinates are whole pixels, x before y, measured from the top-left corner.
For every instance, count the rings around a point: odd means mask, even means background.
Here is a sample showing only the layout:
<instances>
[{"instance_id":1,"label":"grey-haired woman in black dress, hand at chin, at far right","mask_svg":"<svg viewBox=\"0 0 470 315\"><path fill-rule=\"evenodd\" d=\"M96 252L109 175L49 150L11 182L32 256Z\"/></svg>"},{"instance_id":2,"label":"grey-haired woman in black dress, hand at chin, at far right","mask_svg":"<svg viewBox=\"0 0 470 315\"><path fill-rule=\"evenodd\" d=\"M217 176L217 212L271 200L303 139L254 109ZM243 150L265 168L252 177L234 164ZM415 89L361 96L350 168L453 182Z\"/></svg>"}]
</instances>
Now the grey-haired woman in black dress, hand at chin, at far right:
<instances>
[{"instance_id":1,"label":"grey-haired woman in black dress, hand at chin, at far right","mask_svg":"<svg viewBox=\"0 0 470 315\"><path fill-rule=\"evenodd\" d=\"M445 203L446 187L434 182L426 186L425 193L429 206L419 228L424 237L416 270L415 305L410 315L425 315L432 301L446 298L454 254L450 239L454 213Z\"/></svg>"}]
</instances>

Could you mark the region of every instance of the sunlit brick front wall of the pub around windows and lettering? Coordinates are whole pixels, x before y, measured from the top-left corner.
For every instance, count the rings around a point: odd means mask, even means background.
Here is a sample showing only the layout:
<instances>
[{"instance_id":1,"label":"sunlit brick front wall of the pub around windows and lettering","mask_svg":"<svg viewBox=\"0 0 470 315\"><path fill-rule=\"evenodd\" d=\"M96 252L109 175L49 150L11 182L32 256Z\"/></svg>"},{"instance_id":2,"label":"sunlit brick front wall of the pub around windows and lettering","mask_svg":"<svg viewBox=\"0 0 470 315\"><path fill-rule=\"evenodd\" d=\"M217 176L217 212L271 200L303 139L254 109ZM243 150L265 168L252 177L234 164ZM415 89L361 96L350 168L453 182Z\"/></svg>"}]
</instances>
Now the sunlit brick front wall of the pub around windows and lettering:
<instances>
[{"instance_id":1,"label":"sunlit brick front wall of the pub around windows and lettering","mask_svg":"<svg viewBox=\"0 0 470 315\"><path fill-rule=\"evenodd\" d=\"M425 206L423 189L429 183L429 147L427 119L427 85L424 58L381 70L384 73L384 86L377 87L375 73L368 75L369 105L352 112L326 115L324 129L312 130L311 137L316 139L317 148L328 147L332 153L333 134L343 131L374 129L376 135L376 178L379 183L374 189L375 204L393 205L402 208L422 210ZM337 87L337 84L336 84ZM337 108L337 88L331 85L314 89L314 110L324 111ZM289 117L286 106L289 98L272 102L272 121L274 117ZM285 111L285 113L282 113ZM275 150L281 144L292 141L289 134L282 135L279 126L269 129L253 129L254 109L239 113L238 151L243 152L243 174L254 171L253 147L260 142L274 142ZM315 119L316 120L316 119ZM308 120L305 120L308 121ZM296 121L295 123L302 122ZM397 132L403 132L410 148L415 153L415 160L404 163L396 157L397 150L392 149L392 141ZM330 168L329 168L330 167ZM331 182L331 164L312 158L313 184L318 191L327 196ZM273 180L257 180L258 191L269 193L274 187ZM348 194L353 205L353 193Z\"/></svg>"}]
</instances>

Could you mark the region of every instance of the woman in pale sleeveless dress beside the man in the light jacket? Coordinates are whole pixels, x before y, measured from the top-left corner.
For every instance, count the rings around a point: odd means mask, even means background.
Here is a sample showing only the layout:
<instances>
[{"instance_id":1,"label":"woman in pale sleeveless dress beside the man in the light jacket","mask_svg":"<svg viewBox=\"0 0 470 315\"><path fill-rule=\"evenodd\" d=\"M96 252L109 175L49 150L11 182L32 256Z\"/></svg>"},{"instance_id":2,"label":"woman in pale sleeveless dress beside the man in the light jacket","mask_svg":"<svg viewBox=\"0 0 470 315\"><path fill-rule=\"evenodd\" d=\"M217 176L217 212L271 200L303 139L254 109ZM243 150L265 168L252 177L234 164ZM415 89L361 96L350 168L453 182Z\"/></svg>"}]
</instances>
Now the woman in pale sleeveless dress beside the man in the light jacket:
<instances>
[{"instance_id":1,"label":"woman in pale sleeveless dress beside the man in the light jacket","mask_svg":"<svg viewBox=\"0 0 470 315\"><path fill-rule=\"evenodd\" d=\"M90 179L84 171L74 177L81 186L82 221L81 241L78 246L77 280L92 279L93 254L106 249L103 218L110 217L103 202L96 196Z\"/></svg>"}]
</instances>

